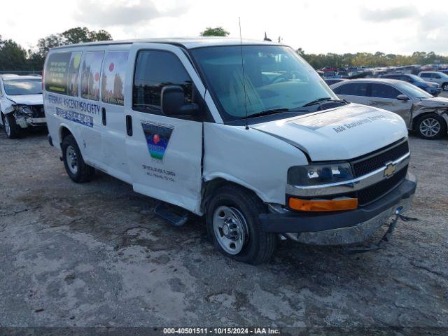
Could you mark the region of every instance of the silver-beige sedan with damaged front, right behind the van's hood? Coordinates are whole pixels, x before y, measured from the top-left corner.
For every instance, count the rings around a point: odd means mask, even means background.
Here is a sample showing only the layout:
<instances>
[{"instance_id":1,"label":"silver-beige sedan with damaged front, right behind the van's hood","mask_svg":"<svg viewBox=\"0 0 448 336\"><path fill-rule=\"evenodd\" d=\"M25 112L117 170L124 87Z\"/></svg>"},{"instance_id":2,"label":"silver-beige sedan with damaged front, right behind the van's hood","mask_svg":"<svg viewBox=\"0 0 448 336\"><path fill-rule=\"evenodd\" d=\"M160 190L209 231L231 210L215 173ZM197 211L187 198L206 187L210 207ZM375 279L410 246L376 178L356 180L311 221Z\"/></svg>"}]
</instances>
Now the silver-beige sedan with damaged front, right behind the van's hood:
<instances>
[{"instance_id":1,"label":"silver-beige sedan with damaged front, right behind the van's hood","mask_svg":"<svg viewBox=\"0 0 448 336\"><path fill-rule=\"evenodd\" d=\"M330 87L348 102L397 113L423 139L447 134L448 98L433 97L410 83L386 78L344 80Z\"/></svg>"}]
</instances>

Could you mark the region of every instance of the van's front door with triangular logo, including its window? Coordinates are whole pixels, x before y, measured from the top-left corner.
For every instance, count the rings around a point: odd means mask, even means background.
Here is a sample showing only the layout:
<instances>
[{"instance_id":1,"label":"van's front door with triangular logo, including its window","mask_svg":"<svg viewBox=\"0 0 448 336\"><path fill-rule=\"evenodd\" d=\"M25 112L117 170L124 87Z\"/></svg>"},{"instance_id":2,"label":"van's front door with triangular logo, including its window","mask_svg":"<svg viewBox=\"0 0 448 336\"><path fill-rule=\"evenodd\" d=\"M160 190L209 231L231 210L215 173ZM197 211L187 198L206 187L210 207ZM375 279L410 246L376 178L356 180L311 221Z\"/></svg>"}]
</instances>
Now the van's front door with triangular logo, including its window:
<instances>
[{"instance_id":1,"label":"van's front door with triangular logo, including its window","mask_svg":"<svg viewBox=\"0 0 448 336\"><path fill-rule=\"evenodd\" d=\"M135 43L129 64L126 80L132 85L125 88L125 118L132 186L137 193L200 214L202 121L165 116L160 94L166 85L179 85L190 103L204 85L174 45Z\"/></svg>"}]
</instances>

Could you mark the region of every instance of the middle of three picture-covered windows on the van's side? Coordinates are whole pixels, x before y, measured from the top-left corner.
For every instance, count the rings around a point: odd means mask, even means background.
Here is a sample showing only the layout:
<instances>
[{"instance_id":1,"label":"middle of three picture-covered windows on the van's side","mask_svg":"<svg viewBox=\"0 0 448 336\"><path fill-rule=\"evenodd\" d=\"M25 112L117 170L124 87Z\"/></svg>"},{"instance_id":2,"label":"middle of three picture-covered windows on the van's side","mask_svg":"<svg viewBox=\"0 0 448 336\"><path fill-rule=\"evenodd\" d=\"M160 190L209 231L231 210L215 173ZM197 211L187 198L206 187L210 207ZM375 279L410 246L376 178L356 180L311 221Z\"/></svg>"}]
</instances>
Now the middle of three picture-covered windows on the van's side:
<instances>
[{"instance_id":1,"label":"middle of three picture-covered windows on the van's side","mask_svg":"<svg viewBox=\"0 0 448 336\"><path fill-rule=\"evenodd\" d=\"M99 73L104 51L86 52L81 67L81 97L99 100Z\"/></svg>"}]
</instances>

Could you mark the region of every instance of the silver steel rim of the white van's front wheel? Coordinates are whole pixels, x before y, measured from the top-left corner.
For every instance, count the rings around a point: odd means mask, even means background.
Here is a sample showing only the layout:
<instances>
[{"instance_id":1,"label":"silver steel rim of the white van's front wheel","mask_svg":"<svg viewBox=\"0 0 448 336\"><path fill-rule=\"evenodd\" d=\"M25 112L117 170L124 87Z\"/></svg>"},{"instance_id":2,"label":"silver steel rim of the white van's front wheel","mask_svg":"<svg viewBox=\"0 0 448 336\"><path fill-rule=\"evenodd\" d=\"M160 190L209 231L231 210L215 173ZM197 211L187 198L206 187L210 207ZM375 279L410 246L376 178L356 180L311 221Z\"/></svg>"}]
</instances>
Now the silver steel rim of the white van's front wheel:
<instances>
[{"instance_id":1,"label":"silver steel rim of the white van's front wheel","mask_svg":"<svg viewBox=\"0 0 448 336\"><path fill-rule=\"evenodd\" d=\"M213 228L216 240L229 254L235 255L248 241L246 219L238 209L218 207L213 215Z\"/></svg>"}]
</instances>

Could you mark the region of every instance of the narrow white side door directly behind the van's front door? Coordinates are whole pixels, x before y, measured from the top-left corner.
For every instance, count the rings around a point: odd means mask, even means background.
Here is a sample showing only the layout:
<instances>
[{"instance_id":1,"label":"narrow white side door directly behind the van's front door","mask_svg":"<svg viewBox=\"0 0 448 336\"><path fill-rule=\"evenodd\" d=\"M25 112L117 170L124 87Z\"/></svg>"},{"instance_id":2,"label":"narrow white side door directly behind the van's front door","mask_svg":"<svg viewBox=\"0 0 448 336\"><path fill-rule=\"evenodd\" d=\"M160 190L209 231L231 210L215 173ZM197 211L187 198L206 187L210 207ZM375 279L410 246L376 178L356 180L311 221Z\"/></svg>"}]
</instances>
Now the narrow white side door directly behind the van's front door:
<instances>
[{"instance_id":1,"label":"narrow white side door directly behind the van's front door","mask_svg":"<svg viewBox=\"0 0 448 336\"><path fill-rule=\"evenodd\" d=\"M130 45L109 45L101 80L102 148L108 174L132 183L125 151L125 81Z\"/></svg>"}]
</instances>

